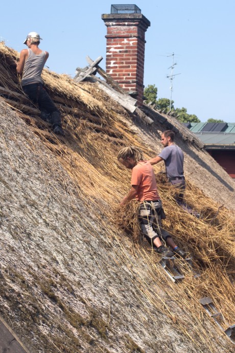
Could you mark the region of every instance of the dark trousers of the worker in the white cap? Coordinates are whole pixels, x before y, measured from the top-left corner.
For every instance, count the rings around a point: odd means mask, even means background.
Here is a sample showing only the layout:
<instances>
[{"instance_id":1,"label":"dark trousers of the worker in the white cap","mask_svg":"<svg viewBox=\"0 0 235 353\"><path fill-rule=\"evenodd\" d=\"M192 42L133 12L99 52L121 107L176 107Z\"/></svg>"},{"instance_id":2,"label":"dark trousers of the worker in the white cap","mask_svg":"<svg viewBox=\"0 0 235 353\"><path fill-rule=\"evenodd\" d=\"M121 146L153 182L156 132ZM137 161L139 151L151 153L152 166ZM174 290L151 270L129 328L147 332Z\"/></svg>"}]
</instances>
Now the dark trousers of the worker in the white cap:
<instances>
[{"instance_id":1,"label":"dark trousers of the worker in the white cap","mask_svg":"<svg viewBox=\"0 0 235 353\"><path fill-rule=\"evenodd\" d=\"M35 104L38 104L41 113L50 114L53 127L61 126L61 114L41 83L27 84L22 86L22 89Z\"/></svg>"}]
</instances>

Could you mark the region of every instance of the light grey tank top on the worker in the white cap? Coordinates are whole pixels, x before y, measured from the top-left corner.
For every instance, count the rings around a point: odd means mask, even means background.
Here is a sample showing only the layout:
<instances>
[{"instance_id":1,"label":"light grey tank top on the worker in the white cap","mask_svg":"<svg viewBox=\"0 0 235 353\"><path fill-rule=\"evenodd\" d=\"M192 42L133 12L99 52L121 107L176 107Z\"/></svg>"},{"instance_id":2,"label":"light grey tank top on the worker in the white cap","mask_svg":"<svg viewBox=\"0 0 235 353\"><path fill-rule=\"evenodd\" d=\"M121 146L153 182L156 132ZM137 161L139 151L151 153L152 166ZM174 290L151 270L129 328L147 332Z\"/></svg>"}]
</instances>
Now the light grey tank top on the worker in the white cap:
<instances>
[{"instance_id":1,"label":"light grey tank top on the worker in the white cap","mask_svg":"<svg viewBox=\"0 0 235 353\"><path fill-rule=\"evenodd\" d=\"M25 86L30 83L43 83L41 79L41 72L45 64L45 52L41 54L34 54L31 49L29 50L29 57L23 66L23 74L21 85Z\"/></svg>"}]
</instances>

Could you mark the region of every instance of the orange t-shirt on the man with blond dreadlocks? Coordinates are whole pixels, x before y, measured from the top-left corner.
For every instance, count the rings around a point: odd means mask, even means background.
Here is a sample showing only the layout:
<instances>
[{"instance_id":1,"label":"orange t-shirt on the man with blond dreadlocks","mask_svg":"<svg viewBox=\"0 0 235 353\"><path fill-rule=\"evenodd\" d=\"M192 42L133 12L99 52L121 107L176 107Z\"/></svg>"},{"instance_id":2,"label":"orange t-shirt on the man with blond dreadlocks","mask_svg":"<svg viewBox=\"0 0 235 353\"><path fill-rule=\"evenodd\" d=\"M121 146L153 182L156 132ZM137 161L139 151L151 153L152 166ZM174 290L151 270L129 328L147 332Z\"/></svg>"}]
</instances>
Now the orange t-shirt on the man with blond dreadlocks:
<instances>
[{"instance_id":1,"label":"orange t-shirt on the man with blond dreadlocks","mask_svg":"<svg viewBox=\"0 0 235 353\"><path fill-rule=\"evenodd\" d=\"M148 161L139 161L132 169L131 185L138 185L138 201L160 200L152 165Z\"/></svg>"}]
</instances>

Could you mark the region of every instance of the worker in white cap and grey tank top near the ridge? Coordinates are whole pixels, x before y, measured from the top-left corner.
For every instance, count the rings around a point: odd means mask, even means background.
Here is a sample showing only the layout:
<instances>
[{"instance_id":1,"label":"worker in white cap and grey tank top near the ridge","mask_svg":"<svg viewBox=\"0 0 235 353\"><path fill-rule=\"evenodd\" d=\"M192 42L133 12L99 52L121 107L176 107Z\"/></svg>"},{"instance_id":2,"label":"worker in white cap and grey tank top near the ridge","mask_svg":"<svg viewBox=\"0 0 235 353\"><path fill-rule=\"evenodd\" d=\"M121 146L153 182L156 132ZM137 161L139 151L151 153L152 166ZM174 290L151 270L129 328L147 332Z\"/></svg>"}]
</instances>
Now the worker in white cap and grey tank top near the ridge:
<instances>
[{"instance_id":1,"label":"worker in white cap and grey tank top near the ridge","mask_svg":"<svg viewBox=\"0 0 235 353\"><path fill-rule=\"evenodd\" d=\"M49 121L52 124L53 132L64 136L61 124L61 114L49 94L43 87L41 72L49 53L38 48L40 44L40 35L36 32L30 32L23 44L28 49L20 52L19 62L16 71L21 75L21 86L23 92L35 103L38 104L41 119Z\"/></svg>"}]
</instances>

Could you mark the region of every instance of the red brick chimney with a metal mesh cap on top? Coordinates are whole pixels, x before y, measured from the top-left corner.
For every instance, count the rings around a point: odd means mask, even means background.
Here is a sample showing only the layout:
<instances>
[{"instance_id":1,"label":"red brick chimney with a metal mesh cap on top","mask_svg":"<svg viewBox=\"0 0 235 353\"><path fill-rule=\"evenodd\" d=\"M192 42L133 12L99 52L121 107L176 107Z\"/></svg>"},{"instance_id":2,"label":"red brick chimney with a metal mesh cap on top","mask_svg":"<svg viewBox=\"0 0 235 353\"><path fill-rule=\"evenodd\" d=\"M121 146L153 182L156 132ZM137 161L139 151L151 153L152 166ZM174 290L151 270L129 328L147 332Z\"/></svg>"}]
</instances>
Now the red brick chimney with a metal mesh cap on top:
<instances>
[{"instance_id":1,"label":"red brick chimney with a metal mesh cap on top","mask_svg":"<svg viewBox=\"0 0 235 353\"><path fill-rule=\"evenodd\" d=\"M150 21L136 5L111 5L107 26L106 72L143 105L145 32Z\"/></svg>"}]
</instances>

